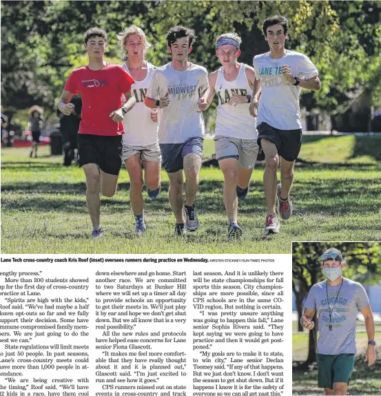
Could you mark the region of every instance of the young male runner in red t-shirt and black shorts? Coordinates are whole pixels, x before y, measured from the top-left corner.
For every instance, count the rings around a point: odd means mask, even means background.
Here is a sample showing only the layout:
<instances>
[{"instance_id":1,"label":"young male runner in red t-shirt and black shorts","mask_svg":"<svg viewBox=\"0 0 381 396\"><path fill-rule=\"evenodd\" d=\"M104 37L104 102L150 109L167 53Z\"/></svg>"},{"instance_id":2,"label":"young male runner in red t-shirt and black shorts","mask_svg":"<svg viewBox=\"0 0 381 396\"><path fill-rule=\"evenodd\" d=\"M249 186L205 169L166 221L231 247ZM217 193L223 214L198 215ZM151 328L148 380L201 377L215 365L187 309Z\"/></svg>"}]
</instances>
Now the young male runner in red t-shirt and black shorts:
<instances>
[{"instance_id":1,"label":"young male runner in red t-shirt and black shorts","mask_svg":"<svg viewBox=\"0 0 381 396\"><path fill-rule=\"evenodd\" d=\"M112 197L121 170L123 116L135 104L131 86L135 82L119 65L104 59L107 33L99 28L85 32L89 63L73 70L59 100L58 108L70 115L72 95L81 93L82 114L79 126L79 165L86 177L86 201L92 221L92 237L103 237L100 224L100 192ZM122 106L122 95L126 103Z\"/></svg>"}]
</instances>

